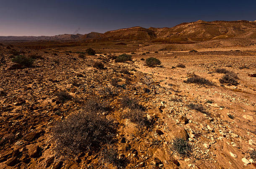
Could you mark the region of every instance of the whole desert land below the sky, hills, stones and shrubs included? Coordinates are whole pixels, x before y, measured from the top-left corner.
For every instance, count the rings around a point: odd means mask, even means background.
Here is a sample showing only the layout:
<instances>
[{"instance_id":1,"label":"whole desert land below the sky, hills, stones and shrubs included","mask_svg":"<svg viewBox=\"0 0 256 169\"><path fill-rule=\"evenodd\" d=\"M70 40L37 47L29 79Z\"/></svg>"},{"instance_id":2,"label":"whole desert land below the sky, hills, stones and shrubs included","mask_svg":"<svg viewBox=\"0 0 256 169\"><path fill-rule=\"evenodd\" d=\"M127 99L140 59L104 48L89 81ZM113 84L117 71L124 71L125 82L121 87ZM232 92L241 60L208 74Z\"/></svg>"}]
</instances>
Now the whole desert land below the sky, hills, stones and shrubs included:
<instances>
[{"instance_id":1,"label":"whole desert land below the sky, hills, stones and shrubs included","mask_svg":"<svg viewBox=\"0 0 256 169\"><path fill-rule=\"evenodd\" d=\"M0 169L256 168L256 21L0 36Z\"/></svg>"}]
</instances>

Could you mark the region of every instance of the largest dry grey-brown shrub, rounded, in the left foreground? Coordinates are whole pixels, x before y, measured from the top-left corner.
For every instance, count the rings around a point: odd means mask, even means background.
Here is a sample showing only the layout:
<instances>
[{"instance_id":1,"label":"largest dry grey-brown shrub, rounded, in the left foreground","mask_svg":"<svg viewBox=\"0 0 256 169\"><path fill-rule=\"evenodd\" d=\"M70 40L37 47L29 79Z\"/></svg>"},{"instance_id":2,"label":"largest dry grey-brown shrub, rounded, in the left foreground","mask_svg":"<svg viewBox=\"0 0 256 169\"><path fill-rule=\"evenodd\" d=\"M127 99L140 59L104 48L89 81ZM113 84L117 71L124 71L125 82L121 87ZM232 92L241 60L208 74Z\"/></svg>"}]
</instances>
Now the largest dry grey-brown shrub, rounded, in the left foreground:
<instances>
[{"instance_id":1,"label":"largest dry grey-brown shrub, rounded, in the left foreground","mask_svg":"<svg viewBox=\"0 0 256 169\"><path fill-rule=\"evenodd\" d=\"M72 114L52 128L57 156L69 160L84 151L98 151L101 146L110 143L115 134L113 121L95 112Z\"/></svg>"}]
</instances>

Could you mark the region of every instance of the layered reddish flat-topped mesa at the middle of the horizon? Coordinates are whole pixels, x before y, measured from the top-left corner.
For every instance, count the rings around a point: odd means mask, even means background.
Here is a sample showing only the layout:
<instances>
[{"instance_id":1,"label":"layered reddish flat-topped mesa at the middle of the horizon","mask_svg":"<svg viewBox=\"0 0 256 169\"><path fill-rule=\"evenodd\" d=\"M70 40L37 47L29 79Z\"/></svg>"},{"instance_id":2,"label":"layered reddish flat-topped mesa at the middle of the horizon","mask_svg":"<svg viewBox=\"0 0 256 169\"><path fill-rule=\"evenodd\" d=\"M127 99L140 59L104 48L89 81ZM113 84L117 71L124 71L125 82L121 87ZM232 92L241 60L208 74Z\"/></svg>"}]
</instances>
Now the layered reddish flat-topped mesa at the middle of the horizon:
<instances>
[{"instance_id":1,"label":"layered reddish flat-topped mesa at the middle of the horizon","mask_svg":"<svg viewBox=\"0 0 256 169\"><path fill-rule=\"evenodd\" d=\"M142 27L132 27L124 28L118 30L108 31L101 35L103 39L135 39L135 40L151 40L156 38L154 31L142 28Z\"/></svg>"}]
</instances>

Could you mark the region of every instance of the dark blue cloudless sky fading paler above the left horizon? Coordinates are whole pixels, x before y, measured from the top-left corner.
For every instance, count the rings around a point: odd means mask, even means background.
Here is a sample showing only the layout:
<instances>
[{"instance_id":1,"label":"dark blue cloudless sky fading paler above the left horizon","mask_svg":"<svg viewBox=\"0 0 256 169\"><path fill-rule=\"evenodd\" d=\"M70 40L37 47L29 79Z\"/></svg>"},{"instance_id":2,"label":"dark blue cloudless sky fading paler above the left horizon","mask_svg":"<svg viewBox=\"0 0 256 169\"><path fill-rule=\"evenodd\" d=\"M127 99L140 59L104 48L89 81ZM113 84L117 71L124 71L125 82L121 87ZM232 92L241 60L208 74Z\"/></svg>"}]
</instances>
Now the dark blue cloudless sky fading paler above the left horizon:
<instances>
[{"instance_id":1,"label":"dark blue cloudless sky fading paler above the left horizon","mask_svg":"<svg viewBox=\"0 0 256 169\"><path fill-rule=\"evenodd\" d=\"M0 36L104 33L196 20L256 20L256 0L0 0Z\"/></svg>"}]
</instances>

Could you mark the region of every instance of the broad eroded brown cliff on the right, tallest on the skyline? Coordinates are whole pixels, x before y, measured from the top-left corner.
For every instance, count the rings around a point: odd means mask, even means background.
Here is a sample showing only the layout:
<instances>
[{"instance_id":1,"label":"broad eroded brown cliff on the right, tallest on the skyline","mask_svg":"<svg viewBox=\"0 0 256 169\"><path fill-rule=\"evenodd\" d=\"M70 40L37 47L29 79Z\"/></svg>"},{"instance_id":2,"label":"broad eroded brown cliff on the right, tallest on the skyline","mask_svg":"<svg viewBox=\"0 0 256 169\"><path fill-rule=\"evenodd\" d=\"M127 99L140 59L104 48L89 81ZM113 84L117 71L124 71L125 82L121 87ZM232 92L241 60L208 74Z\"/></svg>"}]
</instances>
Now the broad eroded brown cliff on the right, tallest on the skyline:
<instances>
[{"instance_id":1,"label":"broad eroded brown cliff on the right, tallest on the skyline","mask_svg":"<svg viewBox=\"0 0 256 169\"><path fill-rule=\"evenodd\" d=\"M198 20L192 23L181 23L172 28L149 28L157 35L157 39L186 38L186 40L212 40L220 38L255 38L256 22Z\"/></svg>"}]
</instances>

